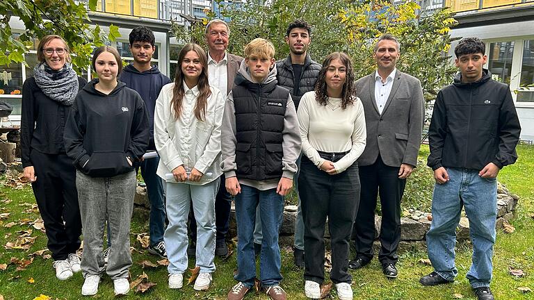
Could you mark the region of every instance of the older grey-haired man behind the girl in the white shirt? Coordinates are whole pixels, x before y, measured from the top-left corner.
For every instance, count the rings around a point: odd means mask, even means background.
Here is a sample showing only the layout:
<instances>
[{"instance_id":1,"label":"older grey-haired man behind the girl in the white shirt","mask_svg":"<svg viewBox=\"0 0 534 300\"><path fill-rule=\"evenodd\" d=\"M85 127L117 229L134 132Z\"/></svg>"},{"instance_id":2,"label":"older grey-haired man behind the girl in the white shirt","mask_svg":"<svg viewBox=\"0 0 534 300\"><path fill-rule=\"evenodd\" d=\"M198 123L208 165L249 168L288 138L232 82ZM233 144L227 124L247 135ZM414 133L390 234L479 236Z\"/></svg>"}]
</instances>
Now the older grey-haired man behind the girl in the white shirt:
<instances>
[{"instance_id":1,"label":"older grey-haired man behind the girl in the white shirt","mask_svg":"<svg viewBox=\"0 0 534 300\"><path fill-rule=\"evenodd\" d=\"M234 88L234 78L241 65L241 56L235 56L226 51L230 36L228 24L220 19L211 20L206 26L206 42L208 44L208 80L209 85L218 88L224 95L227 95ZM225 188L225 176L220 176L219 192L215 199L215 222L217 228L216 235L216 256L225 257L228 255L228 247L225 242L228 233L230 220L230 205L232 198ZM191 240L195 242L197 224L195 218L191 218ZM195 244L193 242L188 248L188 255L195 255Z\"/></svg>"}]
</instances>

